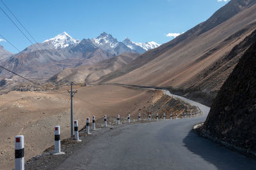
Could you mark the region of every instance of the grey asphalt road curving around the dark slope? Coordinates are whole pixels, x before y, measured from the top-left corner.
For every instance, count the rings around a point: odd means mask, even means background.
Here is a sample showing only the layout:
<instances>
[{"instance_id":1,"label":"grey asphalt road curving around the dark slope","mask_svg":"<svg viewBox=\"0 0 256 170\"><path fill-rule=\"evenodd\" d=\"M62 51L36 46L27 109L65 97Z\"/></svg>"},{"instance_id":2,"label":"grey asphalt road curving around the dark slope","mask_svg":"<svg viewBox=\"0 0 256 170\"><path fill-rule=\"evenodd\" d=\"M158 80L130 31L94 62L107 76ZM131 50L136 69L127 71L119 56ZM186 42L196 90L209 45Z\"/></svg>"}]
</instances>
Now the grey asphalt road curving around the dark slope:
<instances>
[{"instance_id":1,"label":"grey asphalt road curving around the dark slope","mask_svg":"<svg viewBox=\"0 0 256 170\"><path fill-rule=\"evenodd\" d=\"M166 94L170 94L165 91ZM256 160L199 137L191 129L204 115L114 128L83 146L58 169L256 169Z\"/></svg>"}]
</instances>

